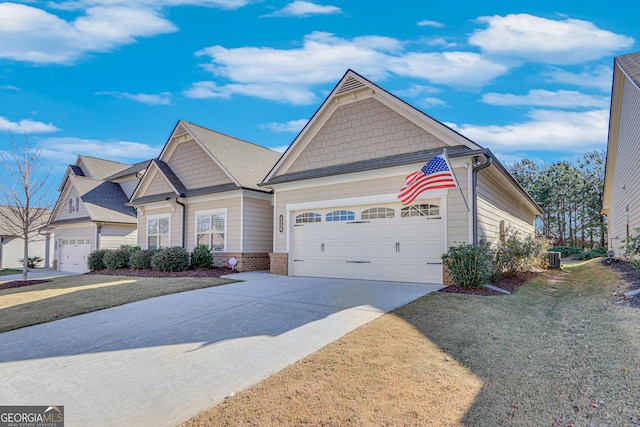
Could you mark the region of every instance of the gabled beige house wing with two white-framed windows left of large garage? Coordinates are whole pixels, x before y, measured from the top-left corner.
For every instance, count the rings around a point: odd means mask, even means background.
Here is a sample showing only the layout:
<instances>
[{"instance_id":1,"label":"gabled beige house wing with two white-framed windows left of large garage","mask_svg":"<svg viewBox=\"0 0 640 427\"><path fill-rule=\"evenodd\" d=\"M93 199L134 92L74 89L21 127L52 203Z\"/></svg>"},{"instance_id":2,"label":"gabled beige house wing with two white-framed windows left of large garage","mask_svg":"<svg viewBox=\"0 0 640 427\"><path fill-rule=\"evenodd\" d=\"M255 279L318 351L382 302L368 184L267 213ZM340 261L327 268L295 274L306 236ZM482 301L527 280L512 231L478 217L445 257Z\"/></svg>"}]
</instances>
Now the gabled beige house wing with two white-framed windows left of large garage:
<instances>
[{"instance_id":1,"label":"gabled beige house wing with two white-framed windows left of large garage","mask_svg":"<svg viewBox=\"0 0 640 427\"><path fill-rule=\"evenodd\" d=\"M269 268L273 195L258 184L280 153L179 121L151 161L131 205L143 248L207 245L216 266Z\"/></svg>"}]
</instances>

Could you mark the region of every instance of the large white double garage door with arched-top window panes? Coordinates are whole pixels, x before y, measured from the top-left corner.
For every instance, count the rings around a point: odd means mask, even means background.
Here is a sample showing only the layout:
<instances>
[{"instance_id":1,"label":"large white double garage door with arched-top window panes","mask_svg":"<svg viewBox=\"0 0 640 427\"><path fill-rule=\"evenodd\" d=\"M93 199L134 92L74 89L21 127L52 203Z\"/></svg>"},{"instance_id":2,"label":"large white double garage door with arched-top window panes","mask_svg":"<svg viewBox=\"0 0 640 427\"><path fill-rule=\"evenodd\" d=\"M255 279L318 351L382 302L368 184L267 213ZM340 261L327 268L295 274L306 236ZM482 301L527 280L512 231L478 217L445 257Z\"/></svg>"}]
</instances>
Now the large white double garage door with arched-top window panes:
<instances>
[{"instance_id":1,"label":"large white double garage door with arched-top window panes","mask_svg":"<svg viewBox=\"0 0 640 427\"><path fill-rule=\"evenodd\" d=\"M295 276L442 283L436 202L297 211L292 228Z\"/></svg>"}]
</instances>

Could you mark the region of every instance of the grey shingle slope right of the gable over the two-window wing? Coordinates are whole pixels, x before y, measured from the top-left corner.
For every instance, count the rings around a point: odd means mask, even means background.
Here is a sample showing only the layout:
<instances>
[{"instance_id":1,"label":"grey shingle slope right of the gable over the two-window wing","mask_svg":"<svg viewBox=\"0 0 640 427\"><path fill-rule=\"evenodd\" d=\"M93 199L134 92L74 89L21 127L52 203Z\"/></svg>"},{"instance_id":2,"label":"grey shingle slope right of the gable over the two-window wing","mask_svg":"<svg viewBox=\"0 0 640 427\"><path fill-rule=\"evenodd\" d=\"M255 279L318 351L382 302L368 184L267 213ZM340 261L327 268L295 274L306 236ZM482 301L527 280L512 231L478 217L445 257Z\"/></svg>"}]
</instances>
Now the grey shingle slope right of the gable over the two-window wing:
<instances>
[{"instance_id":1,"label":"grey shingle slope right of the gable over the two-window wing","mask_svg":"<svg viewBox=\"0 0 640 427\"><path fill-rule=\"evenodd\" d=\"M258 184L281 154L190 122L180 122L222 165L241 187L264 191Z\"/></svg>"}]
</instances>

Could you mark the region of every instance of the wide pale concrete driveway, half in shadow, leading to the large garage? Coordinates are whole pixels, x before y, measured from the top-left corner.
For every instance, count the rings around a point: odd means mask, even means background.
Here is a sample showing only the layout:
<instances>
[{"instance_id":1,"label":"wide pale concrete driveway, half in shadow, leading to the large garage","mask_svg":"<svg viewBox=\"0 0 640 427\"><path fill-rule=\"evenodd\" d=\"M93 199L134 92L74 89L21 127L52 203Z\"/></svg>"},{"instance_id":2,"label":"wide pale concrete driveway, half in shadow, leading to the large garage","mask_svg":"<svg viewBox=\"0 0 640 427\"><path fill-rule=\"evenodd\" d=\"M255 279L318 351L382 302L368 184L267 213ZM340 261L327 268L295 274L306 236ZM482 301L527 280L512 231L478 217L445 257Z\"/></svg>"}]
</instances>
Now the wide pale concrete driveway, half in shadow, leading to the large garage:
<instances>
[{"instance_id":1,"label":"wide pale concrete driveway, half in shadow, leading to the large garage","mask_svg":"<svg viewBox=\"0 0 640 427\"><path fill-rule=\"evenodd\" d=\"M0 334L0 404L63 405L67 427L176 426L441 288L229 277L245 281Z\"/></svg>"}]
</instances>

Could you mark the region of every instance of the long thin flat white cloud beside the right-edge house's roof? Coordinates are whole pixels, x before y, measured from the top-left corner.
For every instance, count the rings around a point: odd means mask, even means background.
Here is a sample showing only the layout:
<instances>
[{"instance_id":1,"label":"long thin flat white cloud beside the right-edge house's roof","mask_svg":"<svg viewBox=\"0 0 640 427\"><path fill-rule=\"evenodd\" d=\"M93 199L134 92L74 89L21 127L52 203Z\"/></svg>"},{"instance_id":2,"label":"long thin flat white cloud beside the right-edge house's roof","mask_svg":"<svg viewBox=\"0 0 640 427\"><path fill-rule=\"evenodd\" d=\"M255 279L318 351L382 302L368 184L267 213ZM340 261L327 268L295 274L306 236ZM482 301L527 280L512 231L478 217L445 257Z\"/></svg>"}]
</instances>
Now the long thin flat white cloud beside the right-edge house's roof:
<instances>
[{"instance_id":1,"label":"long thin flat white cloud beside the right-edge house's roof","mask_svg":"<svg viewBox=\"0 0 640 427\"><path fill-rule=\"evenodd\" d=\"M548 91L544 89L530 90L526 95L512 93L486 93L482 102L502 106L534 106L554 108L608 108L609 98L593 96L572 90Z\"/></svg>"}]
</instances>

